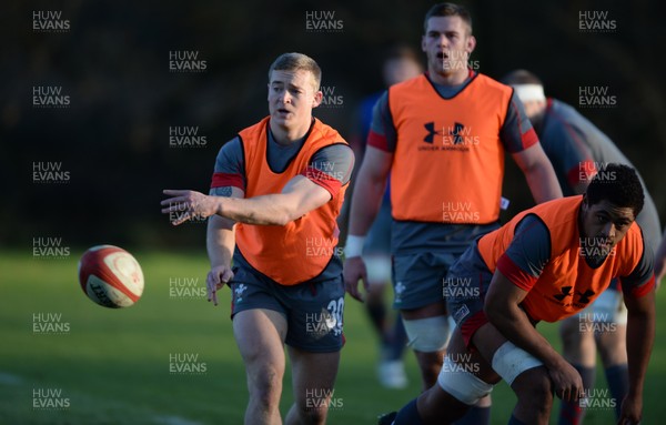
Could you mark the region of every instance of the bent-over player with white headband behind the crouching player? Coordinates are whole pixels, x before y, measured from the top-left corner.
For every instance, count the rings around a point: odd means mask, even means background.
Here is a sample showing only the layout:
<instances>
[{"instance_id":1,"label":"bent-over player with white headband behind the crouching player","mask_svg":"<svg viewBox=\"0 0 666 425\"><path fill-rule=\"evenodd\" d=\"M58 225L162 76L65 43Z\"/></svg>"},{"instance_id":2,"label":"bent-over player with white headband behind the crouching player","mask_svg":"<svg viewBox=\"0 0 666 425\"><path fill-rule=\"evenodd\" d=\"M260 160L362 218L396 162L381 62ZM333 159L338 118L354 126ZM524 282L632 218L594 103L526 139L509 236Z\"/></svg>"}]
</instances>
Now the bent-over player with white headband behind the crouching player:
<instances>
[{"instance_id":1,"label":"bent-over player with white headband behind the crouching player","mask_svg":"<svg viewBox=\"0 0 666 425\"><path fill-rule=\"evenodd\" d=\"M612 162L634 166L606 134L574 108L546 98L542 81L532 72L512 71L502 81L512 85L523 102L565 195L583 194L598 166ZM636 173L640 179L638 171ZM636 222L643 230L647 246L656 252L662 235L659 215L643 179L640 183L645 203ZM620 413L619 402L629 389L626 322L627 311L615 280L594 304L562 321L559 326L563 356L578 371L586 391L594 387L598 350L610 396L616 402L616 417ZM585 408L579 404L563 402L558 423L578 425L584 415Z\"/></svg>"}]
</instances>

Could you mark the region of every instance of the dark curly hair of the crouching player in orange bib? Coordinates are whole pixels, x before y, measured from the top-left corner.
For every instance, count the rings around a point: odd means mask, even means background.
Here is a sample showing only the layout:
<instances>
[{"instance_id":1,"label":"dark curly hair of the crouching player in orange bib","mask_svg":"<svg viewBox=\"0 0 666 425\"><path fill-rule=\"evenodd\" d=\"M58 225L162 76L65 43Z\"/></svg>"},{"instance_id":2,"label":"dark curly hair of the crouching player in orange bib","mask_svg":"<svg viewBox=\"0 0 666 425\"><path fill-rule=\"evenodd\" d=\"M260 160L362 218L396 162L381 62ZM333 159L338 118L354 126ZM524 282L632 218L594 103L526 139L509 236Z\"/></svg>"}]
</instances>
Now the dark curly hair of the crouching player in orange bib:
<instances>
[{"instance_id":1,"label":"dark curly hair of the crouching player in orange bib","mask_svg":"<svg viewBox=\"0 0 666 425\"><path fill-rule=\"evenodd\" d=\"M634 216L640 213L645 200L636 170L616 163L598 168L585 193L588 205L607 200L614 205L630 208L634 210Z\"/></svg>"}]
</instances>

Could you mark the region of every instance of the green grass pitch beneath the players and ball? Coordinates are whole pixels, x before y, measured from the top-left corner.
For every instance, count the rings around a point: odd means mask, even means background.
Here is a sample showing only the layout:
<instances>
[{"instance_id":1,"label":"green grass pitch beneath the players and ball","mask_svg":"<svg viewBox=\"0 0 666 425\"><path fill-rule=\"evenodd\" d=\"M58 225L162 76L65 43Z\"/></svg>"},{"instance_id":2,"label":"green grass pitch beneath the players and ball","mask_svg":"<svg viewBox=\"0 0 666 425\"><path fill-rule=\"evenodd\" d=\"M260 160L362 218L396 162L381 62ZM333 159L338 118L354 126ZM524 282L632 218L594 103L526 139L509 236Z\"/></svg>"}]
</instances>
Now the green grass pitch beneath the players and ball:
<instances>
[{"instance_id":1,"label":"green grass pitch beneath the players and ball","mask_svg":"<svg viewBox=\"0 0 666 425\"><path fill-rule=\"evenodd\" d=\"M130 308L89 301L77 279L81 251L62 259L0 253L0 424L242 424L246 404L243 364L229 320L229 291L213 307L204 297L205 253L135 252L145 291ZM389 295L389 292L386 293ZM659 294L657 310L666 307ZM644 424L664 423L666 325L657 340L645 388ZM556 327L539 325L555 346ZM420 392L406 356L410 386L387 391L376 381L376 340L361 304L346 298L346 346L330 424L375 424ZM604 387L603 373L597 387ZM515 397L493 392L493 424L506 424ZM292 403L287 374L281 409ZM554 416L557 404L554 408ZM555 423L555 419L552 421ZM591 409L586 424L612 424L613 413Z\"/></svg>"}]
</instances>

